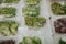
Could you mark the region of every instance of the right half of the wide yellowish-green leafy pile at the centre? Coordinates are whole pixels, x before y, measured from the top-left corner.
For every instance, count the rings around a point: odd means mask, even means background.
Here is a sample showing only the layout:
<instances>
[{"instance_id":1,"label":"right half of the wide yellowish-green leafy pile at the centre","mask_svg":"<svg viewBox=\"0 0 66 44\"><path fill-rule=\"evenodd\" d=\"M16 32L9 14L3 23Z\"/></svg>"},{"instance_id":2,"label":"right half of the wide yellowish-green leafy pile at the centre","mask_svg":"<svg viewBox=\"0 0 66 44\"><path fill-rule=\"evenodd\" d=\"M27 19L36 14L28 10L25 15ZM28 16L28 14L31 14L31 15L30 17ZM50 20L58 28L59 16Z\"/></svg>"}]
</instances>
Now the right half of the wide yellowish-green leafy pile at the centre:
<instances>
[{"instance_id":1,"label":"right half of the wide yellowish-green leafy pile at the centre","mask_svg":"<svg viewBox=\"0 0 66 44\"><path fill-rule=\"evenodd\" d=\"M46 19L45 18L36 18L33 23L34 23L34 26L42 28L46 23Z\"/></svg>"}]
</instances>

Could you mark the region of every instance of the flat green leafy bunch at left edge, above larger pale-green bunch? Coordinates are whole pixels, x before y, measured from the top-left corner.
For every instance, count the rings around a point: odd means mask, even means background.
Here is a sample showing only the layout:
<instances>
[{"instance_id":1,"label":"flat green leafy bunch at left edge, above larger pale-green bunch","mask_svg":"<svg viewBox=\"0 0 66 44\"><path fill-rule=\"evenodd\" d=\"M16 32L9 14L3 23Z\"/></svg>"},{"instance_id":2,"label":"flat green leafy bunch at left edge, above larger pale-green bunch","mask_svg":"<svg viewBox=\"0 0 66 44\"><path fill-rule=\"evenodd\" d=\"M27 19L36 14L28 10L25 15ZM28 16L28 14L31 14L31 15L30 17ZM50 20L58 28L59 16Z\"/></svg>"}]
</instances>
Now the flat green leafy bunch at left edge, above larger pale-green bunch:
<instances>
[{"instance_id":1,"label":"flat green leafy bunch at left edge, above larger pale-green bunch","mask_svg":"<svg viewBox=\"0 0 66 44\"><path fill-rule=\"evenodd\" d=\"M15 16L15 8L2 8L0 9L0 15L4 15L7 18Z\"/></svg>"}]
</instances>

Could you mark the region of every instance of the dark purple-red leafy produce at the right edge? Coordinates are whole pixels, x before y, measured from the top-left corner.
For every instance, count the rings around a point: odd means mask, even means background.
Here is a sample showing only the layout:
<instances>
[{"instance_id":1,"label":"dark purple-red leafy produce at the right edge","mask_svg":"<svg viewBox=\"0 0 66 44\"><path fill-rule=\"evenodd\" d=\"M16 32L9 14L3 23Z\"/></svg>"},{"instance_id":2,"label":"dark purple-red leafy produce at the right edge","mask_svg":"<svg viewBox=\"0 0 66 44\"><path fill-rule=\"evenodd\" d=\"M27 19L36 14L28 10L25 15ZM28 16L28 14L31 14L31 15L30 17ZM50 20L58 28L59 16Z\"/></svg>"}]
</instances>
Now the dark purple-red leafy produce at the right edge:
<instances>
[{"instance_id":1,"label":"dark purple-red leafy produce at the right edge","mask_svg":"<svg viewBox=\"0 0 66 44\"><path fill-rule=\"evenodd\" d=\"M59 18L54 22L54 28L56 33L66 33L66 18Z\"/></svg>"}]
</instances>

